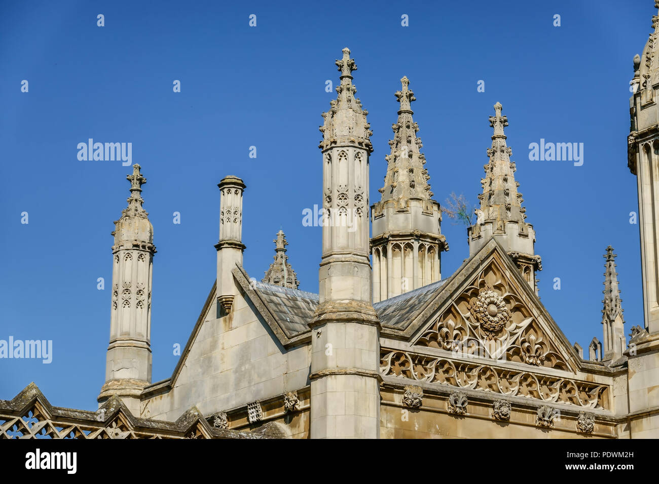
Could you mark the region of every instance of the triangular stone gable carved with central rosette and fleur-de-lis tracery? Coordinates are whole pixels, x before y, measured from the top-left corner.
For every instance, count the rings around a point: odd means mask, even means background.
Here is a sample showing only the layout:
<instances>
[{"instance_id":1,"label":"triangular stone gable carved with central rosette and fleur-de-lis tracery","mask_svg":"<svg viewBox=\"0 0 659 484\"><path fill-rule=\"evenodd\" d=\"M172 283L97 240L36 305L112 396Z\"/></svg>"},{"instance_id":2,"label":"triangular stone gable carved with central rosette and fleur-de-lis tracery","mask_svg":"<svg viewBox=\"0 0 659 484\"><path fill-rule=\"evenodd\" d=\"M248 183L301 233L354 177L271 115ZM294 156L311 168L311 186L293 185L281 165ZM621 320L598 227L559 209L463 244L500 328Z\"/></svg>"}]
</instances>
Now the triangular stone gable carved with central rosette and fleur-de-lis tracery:
<instances>
[{"instance_id":1,"label":"triangular stone gable carved with central rosette and fleur-de-lis tracery","mask_svg":"<svg viewBox=\"0 0 659 484\"><path fill-rule=\"evenodd\" d=\"M428 309L431 309L428 311ZM443 286L409 330L422 347L456 356L577 371L580 359L493 238Z\"/></svg>"}]
</instances>

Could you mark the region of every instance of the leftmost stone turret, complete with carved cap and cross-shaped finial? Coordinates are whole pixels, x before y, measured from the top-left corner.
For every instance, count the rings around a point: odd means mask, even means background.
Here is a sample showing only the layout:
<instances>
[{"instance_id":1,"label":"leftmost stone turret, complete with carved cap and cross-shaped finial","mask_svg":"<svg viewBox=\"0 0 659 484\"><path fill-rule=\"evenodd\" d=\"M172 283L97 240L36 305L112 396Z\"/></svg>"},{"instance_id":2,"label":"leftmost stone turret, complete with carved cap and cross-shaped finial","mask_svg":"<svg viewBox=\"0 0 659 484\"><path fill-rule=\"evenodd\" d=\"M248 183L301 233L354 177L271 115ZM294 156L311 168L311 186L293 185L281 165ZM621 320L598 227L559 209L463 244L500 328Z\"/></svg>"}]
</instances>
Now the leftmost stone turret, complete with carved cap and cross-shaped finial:
<instances>
[{"instance_id":1,"label":"leftmost stone turret, complete with carved cap and cross-shaped finial","mask_svg":"<svg viewBox=\"0 0 659 484\"><path fill-rule=\"evenodd\" d=\"M98 402L115 394L138 416L140 392L151 383L151 281L156 246L149 214L142 207L140 194L146 178L140 174L140 165L133 165L127 179L129 205L112 232L110 344Z\"/></svg>"}]
</instances>

